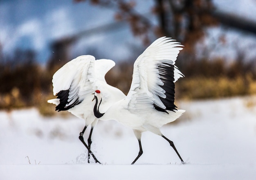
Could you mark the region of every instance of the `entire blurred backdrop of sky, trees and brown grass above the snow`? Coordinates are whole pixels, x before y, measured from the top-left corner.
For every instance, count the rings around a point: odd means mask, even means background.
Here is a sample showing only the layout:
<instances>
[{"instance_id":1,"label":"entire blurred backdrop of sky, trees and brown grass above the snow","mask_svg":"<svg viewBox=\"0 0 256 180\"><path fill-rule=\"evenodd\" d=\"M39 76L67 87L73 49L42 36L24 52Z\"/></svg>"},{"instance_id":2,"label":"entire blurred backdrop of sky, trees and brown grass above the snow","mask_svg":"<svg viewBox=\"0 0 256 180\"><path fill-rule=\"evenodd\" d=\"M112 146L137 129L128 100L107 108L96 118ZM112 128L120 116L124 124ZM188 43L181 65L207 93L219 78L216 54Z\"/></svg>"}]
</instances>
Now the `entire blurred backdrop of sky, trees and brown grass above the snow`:
<instances>
[{"instance_id":1,"label":"entire blurred backdrop of sky, trees and brown grass above the snow","mask_svg":"<svg viewBox=\"0 0 256 180\"><path fill-rule=\"evenodd\" d=\"M106 79L126 94L161 36L184 45L177 99L256 94L255 0L0 0L0 109L54 114L52 75L79 55L114 60Z\"/></svg>"}]
</instances>

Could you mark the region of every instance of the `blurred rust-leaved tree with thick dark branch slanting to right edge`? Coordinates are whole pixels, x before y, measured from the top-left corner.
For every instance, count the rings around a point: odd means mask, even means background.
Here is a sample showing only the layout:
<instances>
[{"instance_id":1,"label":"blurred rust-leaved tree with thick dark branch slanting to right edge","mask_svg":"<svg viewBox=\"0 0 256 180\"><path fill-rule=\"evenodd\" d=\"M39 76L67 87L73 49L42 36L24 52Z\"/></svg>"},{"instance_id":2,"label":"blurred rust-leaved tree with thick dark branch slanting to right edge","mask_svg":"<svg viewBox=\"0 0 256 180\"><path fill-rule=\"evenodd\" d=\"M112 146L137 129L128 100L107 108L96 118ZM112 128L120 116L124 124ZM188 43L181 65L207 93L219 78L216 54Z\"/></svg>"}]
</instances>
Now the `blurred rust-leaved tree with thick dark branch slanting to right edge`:
<instances>
[{"instance_id":1,"label":"blurred rust-leaved tree with thick dark branch slanting to right edge","mask_svg":"<svg viewBox=\"0 0 256 180\"><path fill-rule=\"evenodd\" d=\"M195 44L205 35L205 29L219 23L224 26L236 28L256 34L256 23L238 17L235 14L227 14L216 11L212 0L154 0L151 13L156 15L157 24L136 11L135 0L73 0L74 2L90 2L93 5L108 7L116 11L117 21L128 22L133 35L141 37L145 45L150 44L150 35L157 37L173 37L185 46L177 61L181 70L187 66L187 62L198 60L195 53ZM155 37L154 37L155 39ZM221 40L219 40L221 41ZM218 40L215 44L218 44ZM186 73L186 72L184 72Z\"/></svg>"}]
</instances>

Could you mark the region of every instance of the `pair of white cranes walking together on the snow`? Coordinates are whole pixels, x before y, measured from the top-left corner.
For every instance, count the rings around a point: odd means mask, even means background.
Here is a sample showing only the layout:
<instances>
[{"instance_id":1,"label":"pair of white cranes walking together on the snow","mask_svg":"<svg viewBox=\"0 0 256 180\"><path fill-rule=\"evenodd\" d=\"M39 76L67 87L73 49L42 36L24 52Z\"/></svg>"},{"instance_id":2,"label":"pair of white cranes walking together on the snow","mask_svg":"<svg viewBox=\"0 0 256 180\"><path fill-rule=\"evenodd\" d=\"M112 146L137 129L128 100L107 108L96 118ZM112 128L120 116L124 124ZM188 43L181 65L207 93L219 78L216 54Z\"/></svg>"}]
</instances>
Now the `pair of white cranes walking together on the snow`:
<instances>
[{"instance_id":1,"label":"pair of white cranes walking together on the snow","mask_svg":"<svg viewBox=\"0 0 256 180\"><path fill-rule=\"evenodd\" d=\"M175 66L181 46L169 37L160 37L148 46L134 63L127 96L105 80L106 73L115 66L110 59L95 60L91 55L83 55L55 72L52 83L53 94L57 97L48 102L54 103L58 111L67 110L85 120L79 139L88 149L88 162L91 155L95 162L100 163L90 149L92 131L98 119L113 119L132 128L139 142L139 154L132 164L143 153L141 133L145 131L167 140L184 163L173 142L159 130L162 125L175 121L185 112L177 110L174 104L174 83L184 77ZM91 130L87 145L83 134L88 126L91 126Z\"/></svg>"}]
</instances>

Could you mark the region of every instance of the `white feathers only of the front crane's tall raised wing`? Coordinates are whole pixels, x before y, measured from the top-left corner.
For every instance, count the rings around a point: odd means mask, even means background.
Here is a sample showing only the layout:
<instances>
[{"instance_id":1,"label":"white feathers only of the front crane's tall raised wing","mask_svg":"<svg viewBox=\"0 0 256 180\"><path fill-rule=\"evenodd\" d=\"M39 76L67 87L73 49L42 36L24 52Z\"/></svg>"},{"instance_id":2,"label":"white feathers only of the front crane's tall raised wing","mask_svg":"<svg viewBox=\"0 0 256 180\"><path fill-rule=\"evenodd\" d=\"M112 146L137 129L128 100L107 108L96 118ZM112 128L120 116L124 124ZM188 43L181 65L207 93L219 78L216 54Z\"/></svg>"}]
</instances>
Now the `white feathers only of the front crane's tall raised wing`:
<instances>
[{"instance_id":1,"label":"white feathers only of the front crane's tall raised wing","mask_svg":"<svg viewBox=\"0 0 256 180\"><path fill-rule=\"evenodd\" d=\"M132 84L127 94L130 110L143 110L143 106L153 108L153 104L163 109L166 108L159 99L159 97L165 98L166 95L164 94L165 90L161 88L164 83L160 79L157 66L174 65L180 50L182 50L180 46L182 45L179 42L171 38L160 37L136 59L133 67ZM173 82L180 77L184 77L184 75L174 65Z\"/></svg>"}]
</instances>

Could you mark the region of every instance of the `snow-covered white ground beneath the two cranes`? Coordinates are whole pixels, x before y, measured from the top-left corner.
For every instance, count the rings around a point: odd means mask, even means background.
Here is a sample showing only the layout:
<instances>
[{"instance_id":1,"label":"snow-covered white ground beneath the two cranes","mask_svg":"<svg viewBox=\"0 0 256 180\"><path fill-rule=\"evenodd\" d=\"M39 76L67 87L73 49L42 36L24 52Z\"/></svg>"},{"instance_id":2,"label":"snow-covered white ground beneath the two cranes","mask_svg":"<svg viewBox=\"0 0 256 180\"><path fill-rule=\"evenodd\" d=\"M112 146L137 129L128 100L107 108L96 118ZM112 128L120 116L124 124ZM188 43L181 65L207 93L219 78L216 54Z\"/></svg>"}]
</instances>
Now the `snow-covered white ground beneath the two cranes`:
<instances>
[{"instance_id":1,"label":"snow-covered white ground beneath the two cranes","mask_svg":"<svg viewBox=\"0 0 256 180\"><path fill-rule=\"evenodd\" d=\"M142 134L143 155L131 129L100 121L87 163L78 136L84 122L72 115L46 118L34 108L0 112L0 179L255 179L256 97L177 102L185 114L162 133ZM54 107L53 107L54 108ZM156 120L157 121L157 120ZM84 135L85 140L88 132ZM29 164L30 161L30 164Z\"/></svg>"}]
</instances>

